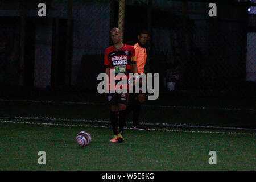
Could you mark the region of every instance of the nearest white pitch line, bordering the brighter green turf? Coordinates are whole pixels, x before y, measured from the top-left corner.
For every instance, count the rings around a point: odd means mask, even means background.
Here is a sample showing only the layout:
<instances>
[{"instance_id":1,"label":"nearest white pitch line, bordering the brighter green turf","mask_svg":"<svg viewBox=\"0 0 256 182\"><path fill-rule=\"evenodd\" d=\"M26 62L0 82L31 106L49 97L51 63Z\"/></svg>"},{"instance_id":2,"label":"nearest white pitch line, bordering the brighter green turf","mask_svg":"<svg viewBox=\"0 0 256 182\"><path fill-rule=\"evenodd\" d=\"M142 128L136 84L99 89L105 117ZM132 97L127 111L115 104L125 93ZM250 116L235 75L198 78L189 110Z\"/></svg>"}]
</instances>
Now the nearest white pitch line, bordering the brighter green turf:
<instances>
[{"instance_id":1,"label":"nearest white pitch line, bordering the brighter green turf","mask_svg":"<svg viewBox=\"0 0 256 182\"><path fill-rule=\"evenodd\" d=\"M110 128L108 126L93 126L93 125L75 125L75 124L57 124L57 123L36 123L36 122L19 122L19 121L0 121L0 123L15 123L26 125L48 125L48 126L76 126L76 127L99 127ZM131 130L131 129L130 129ZM207 134L242 134L242 135L256 135L256 133L240 133L240 132L226 132L226 131L193 131L193 130L173 130L173 129L146 129L147 131L172 131L183 133L207 133Z\"/></svg>"}]
</instances>

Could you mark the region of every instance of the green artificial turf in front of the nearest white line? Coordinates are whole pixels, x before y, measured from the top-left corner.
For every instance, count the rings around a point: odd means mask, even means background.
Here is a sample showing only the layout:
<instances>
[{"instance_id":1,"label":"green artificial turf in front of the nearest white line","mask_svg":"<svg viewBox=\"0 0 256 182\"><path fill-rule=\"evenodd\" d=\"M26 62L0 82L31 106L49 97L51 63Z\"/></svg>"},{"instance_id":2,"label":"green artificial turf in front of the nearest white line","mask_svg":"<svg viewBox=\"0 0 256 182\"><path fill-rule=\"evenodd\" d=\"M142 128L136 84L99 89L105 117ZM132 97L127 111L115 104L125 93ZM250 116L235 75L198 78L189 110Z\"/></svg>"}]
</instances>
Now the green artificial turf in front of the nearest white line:
<instances>
[{"instance_id":1,"label":"green artificial turf in front of the nearest white line","mask_svg":"<svg viewBox=\"0 0 256 182\"><path fill-rule=\"evenodd\" d=\"M0 122L0 131L0 170L255 170L256 166L255 135L126 129L125 142L109 143L110 127ZM77 146L79 131L91 134L88 147ZM46 152L46 165L38 164L39 151ZM208 163L209 151L217 152L217 165Z\"/></svg>"}]
</instances>

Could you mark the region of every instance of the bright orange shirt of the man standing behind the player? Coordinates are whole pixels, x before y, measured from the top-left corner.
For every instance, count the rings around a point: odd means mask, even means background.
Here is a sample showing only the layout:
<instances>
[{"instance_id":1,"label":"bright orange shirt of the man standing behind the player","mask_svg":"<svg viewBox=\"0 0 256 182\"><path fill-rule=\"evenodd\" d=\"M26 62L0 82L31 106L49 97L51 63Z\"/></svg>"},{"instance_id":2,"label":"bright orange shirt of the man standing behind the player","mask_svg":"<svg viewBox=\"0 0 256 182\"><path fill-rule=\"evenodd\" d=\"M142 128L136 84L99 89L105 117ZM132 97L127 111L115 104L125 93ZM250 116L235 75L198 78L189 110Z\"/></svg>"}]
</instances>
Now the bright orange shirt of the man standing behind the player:
<instances>
[{"instance_id":1,"label":"bright orange shirt of the man standing behind the player","mask_svg":"<svg viewBox=\"0 0 256 182\"><path fill-rule=\"evenodd\" d=\"M146 64L146 60L147 60L147 53L146 53L146 48L143 48L141 46L139 46L139 43L134 45L134 49L135 49L135 56L136 56L136 65L138 68L138 73L144 73L144 67Z\"/></svg>"}]
</instances>

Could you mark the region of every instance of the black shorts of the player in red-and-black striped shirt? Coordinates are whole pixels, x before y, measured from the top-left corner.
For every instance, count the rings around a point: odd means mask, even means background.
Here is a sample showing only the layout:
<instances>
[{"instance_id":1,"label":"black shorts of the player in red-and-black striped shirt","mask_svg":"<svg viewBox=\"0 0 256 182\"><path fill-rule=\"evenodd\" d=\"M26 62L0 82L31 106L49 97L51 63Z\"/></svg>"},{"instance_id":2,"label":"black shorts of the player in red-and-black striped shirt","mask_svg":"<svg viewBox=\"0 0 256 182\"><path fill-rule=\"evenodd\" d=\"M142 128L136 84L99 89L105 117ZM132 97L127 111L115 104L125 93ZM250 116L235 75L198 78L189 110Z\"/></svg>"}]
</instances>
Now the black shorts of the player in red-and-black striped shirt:
<instances>
[{"instance_id":1,"label":"black shorts of the player in red-and-black striped shirt","mask_svg":"<svg viewBox=\"0 0 256 182\"><path fill-rule=\"evenodd\" d=\"M129 93L109 93L106 96L106 100L109 105L125 104L129 102Z\"/></svg>"}]
</instances>

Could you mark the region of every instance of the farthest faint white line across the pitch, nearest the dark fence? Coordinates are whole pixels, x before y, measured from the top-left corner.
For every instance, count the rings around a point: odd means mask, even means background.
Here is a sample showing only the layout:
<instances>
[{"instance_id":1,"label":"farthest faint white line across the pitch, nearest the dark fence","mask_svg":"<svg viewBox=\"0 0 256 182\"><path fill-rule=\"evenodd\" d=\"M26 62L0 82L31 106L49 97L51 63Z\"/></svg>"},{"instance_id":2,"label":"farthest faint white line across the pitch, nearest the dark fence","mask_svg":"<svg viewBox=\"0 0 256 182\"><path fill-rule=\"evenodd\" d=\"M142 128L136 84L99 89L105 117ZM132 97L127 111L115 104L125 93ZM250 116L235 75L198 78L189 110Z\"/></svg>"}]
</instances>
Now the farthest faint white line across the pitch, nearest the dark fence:
<instances>
[{"instance_id":1,"label":"farthest faint white line across the pitch, nearest the dark fence","mask_svg":"<svg viewBox=\"0 0 256 182\"><path fill-rule=\"evenodd\" d=\"M0 99L0 101L9 102L37 102L37 103L52 103L52 104L85 104L85 105L106 105L104 103L93 103L93 102L73 102L73 101L34 101L34 100L7 100ZM199 106L168 106L168 105L143 105L146 107L163 107L163 108L177 108L177 109L213 109L213 110L245 110L245 111L256 111L256 109L246 108L228 108L228 107L199 107Z\"/></svg>"}]
</instances>

